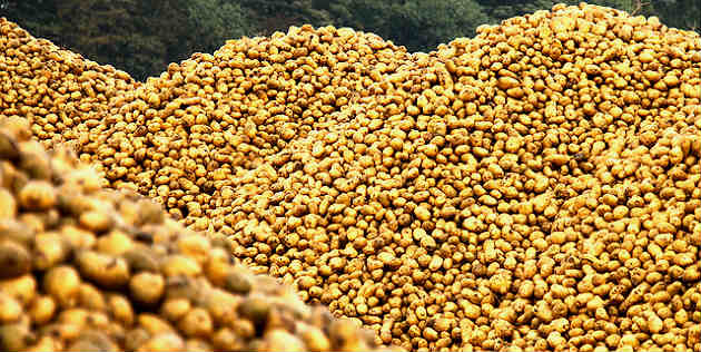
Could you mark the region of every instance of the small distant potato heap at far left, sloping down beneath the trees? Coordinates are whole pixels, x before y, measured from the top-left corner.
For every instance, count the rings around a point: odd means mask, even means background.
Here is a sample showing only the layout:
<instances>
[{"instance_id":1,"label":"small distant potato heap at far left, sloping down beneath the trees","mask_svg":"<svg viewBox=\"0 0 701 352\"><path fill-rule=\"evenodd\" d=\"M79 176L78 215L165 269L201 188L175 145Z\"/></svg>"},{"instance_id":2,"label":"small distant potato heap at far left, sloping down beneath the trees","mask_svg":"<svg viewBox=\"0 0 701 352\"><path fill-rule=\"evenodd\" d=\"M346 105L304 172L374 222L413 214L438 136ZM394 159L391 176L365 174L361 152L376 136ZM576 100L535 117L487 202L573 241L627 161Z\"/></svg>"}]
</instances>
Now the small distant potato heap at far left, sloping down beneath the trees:
<instances>
[{"instance_id":1,"label":"small distant potato heap at far left, sloping down beneath the trees","mask_svg":"<svg viewBox=\"0 0 701 352\"><path fill-rule=\"evenodd\" d=\"M33 38L0 18L0 119L30 119L46 147L70 141L95 148L88 131L102 127L110 99L134 87L126 72Z\"/></svg>"}]
</instances>

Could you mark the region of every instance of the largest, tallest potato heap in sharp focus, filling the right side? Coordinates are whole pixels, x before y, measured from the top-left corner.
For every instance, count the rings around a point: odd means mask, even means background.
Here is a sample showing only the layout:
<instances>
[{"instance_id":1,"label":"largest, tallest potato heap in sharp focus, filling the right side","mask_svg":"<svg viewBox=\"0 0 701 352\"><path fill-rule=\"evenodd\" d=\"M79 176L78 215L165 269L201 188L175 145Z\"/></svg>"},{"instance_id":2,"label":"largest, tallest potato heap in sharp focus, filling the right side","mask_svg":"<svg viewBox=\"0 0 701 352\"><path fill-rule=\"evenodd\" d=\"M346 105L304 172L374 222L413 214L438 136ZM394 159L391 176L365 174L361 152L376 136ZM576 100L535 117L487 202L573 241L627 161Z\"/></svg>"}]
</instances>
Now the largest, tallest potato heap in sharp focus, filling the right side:
<instances>
[{"instance_id":1,"label":"largest, tallest potato heap in sharp focus, filling the right side","mask_svg":"<svg viewBox=\"0 0 701 352\"><path fill-rule=\"evenodd\" d=\"M235 256L384 343L701 351L700 50L585 4L482 27L211 214Z\"/></svg>"}]
</instances>

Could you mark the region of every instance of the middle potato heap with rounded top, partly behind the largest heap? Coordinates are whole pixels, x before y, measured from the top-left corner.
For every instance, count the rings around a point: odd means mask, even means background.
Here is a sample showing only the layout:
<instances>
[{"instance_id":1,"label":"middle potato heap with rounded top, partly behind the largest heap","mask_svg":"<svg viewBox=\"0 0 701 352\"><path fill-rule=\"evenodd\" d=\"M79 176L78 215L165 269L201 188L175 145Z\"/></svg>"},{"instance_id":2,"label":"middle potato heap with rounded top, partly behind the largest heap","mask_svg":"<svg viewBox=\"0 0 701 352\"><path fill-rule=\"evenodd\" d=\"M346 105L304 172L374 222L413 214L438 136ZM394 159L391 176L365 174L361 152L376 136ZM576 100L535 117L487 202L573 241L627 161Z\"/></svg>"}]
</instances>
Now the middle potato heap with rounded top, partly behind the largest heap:
<instances>
[{"instance_id":1,"label":"middle potato heap with rounded top, partly behind the largest heap","mask_svg":"<svg viewBox=\"0 0 701 352\"><path fill-rule=\"evenodd\" d=\"M375 94L369 87L407 58L404 48L350 29L304 26L231 40L115 99L93 158L112 187L130 183L176 218L208 228L241 168L294 153L289 140L347 120L342 108Z\"/></svg>"}]
</instances>

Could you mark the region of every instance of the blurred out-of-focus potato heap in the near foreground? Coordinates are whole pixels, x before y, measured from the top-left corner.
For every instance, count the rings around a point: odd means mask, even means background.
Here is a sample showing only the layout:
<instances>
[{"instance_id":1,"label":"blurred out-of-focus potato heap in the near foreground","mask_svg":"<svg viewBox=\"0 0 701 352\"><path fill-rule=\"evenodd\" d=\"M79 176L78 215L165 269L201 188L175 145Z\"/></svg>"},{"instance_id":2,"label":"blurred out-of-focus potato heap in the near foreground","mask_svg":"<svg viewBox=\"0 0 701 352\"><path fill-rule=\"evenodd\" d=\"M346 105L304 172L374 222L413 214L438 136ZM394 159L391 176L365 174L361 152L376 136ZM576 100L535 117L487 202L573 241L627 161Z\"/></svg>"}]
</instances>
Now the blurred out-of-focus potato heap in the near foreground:
<instances>
[{"instance_id":1,"label":"blurred out-of-focus potato heap in the near foreground","mask_svg":"<svg viewBox=\"0 0 701 352\"><path fill-rule=\"evenodd\" d=\"M70 154L0 129L0 350L367 351L373 334L231 261Z\"/></svg>"}]
</instances>

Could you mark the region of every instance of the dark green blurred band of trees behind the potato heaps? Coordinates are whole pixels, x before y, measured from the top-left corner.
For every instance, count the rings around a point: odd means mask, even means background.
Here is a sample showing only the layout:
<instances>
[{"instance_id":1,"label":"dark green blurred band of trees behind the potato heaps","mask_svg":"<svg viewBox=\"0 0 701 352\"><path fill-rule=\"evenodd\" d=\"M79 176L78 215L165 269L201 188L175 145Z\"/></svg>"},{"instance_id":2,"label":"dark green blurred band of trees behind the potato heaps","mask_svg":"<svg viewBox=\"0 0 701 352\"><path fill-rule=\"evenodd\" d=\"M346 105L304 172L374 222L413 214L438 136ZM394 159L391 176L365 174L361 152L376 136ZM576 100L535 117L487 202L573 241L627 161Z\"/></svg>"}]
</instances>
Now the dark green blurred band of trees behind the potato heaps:
<instances>
[{"instance_id":1,"label":"dark green blurred band of trees behind the potato heaps","mask_svg":"<svg viewBox=\"0 0 701 352\"><path fill-rule=\"evenodd\" d=\"M480 25L571 0L0 0L0 17L34 37L110 63L136 79L157 76L192 52L227 39L267 36L289 26L352 27L409 51L428 52ZM699 31L700 0L592 0L669 27Z\"/></svg>"}]
</instances>

